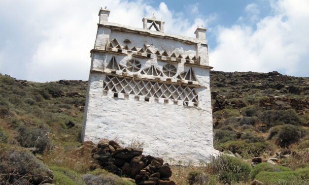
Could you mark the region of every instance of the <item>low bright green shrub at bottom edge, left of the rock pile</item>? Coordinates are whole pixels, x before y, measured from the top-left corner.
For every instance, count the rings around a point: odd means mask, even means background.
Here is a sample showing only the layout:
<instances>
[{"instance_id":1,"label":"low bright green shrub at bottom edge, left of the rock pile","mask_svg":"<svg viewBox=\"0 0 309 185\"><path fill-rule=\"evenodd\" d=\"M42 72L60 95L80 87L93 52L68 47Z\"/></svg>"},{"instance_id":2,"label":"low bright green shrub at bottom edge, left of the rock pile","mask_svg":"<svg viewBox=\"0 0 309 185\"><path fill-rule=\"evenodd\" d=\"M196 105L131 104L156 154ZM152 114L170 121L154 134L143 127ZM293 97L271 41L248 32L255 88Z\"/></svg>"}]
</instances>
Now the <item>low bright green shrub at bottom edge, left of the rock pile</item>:
<instances>
[{"instance_id":1,"label":"low bright green shrub at bottom edge, left of the rock pile","mask_svg":"<svg viewBox=\"0 0 309 185\"><path fill-rule=\"evenodd\" d=\"M69 168L52 166L50 169L54 173L54 184L57 185L84 185L80 175Z\"/></svg>"}]
</instances>

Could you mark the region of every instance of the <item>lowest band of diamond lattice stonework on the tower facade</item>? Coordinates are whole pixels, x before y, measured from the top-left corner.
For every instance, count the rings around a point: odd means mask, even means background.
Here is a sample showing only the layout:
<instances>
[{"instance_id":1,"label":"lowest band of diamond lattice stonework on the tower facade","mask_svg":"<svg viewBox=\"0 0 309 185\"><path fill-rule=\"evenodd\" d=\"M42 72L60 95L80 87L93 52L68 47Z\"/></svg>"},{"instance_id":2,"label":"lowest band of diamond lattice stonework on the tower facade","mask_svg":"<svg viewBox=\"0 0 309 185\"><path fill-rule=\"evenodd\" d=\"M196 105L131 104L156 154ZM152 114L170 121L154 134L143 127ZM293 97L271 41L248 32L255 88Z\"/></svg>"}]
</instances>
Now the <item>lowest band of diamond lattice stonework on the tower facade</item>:
<instances>
[{"instance_id":1,"label":"lowest band of diamond lattice stonework on the tower facade","mask_svg":"<svg viewBox=\"0 0 309 185\"><path fill-rule=\"evenodd\" d=\"M198 103L194 87L106 75L103 90Z\"/></svg>"}]
</instances>

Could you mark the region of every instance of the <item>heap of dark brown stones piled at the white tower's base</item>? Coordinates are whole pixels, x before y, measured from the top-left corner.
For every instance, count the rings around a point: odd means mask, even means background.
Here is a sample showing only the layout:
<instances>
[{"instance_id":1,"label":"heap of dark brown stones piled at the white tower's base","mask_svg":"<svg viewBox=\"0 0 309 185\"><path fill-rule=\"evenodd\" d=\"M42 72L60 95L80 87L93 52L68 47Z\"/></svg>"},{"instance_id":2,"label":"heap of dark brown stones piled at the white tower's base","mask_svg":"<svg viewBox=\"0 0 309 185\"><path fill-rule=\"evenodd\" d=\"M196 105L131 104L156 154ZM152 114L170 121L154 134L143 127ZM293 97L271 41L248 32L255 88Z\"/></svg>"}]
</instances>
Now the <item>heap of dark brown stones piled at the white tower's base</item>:
<instances>
[{"instance_id":1,"label":"heap of dark brown stones piled at the white tower's base","mask_svg":"<svg viewBox=\"0 0 309 185\"><path fill-rule=\"evenodd\" d=\"M91 141L82 144L92 148L92 158L100 166L119 176L130 177L137 185L175 185L169 178L172 170L160 157L143 155L142 149L123 148L115 141L101 140L97 146Z\"/></svg>"}]
</instances>

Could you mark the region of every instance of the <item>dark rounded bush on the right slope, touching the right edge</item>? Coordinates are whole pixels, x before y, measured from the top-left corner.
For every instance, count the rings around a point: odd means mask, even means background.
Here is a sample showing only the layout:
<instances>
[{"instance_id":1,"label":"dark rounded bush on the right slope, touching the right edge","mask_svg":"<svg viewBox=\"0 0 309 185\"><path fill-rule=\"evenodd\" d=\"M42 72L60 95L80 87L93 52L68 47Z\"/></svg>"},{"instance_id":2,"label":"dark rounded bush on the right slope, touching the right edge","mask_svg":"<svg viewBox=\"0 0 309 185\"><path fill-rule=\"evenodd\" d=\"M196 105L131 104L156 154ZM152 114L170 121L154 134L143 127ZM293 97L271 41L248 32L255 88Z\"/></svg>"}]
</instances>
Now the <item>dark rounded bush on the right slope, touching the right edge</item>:
<instances>
[{"instance_id":1,"label":"dark rounded bush on the right slope, touching the right edge","mask_svg":"<svg viewBox=\"0 0 309 185\"><path fill-rule=\"evenodd\" d=\"M287 147L292 143L298 142L306 136L308 131L292 124L286 124L281 127L276 138L276 144L280 147Z\"/></svg>"}]
</instances>

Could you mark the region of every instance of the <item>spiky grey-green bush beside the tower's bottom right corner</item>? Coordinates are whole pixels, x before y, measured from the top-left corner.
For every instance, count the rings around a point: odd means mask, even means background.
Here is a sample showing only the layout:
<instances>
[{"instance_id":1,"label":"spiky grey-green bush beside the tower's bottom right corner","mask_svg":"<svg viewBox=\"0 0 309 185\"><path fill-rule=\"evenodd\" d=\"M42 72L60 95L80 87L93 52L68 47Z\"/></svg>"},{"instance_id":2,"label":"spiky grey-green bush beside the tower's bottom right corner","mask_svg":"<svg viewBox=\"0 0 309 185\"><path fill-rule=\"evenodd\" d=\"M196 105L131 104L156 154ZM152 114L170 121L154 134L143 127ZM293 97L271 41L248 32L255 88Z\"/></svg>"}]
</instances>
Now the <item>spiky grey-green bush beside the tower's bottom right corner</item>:
<instances>
[{"instance_id":1,"label":"spiky grey-green bush beside the tower's bottom right corner","mask_svg":"<svg viewBox=\"0 0 309 185\"><path fill-rule=\"evenodd\" d=\"M219 181L224 184L247 181L251 166L236 157L219 156L209 165L210 171L218 174Z\"/></svg>"}]
</instances>

